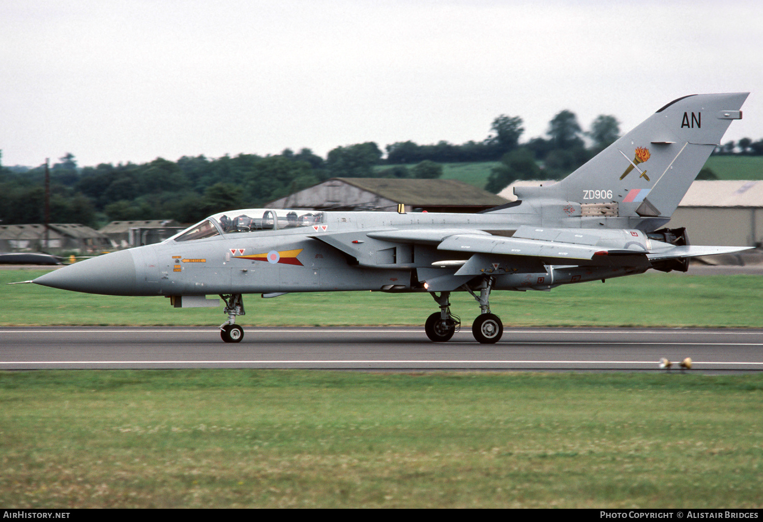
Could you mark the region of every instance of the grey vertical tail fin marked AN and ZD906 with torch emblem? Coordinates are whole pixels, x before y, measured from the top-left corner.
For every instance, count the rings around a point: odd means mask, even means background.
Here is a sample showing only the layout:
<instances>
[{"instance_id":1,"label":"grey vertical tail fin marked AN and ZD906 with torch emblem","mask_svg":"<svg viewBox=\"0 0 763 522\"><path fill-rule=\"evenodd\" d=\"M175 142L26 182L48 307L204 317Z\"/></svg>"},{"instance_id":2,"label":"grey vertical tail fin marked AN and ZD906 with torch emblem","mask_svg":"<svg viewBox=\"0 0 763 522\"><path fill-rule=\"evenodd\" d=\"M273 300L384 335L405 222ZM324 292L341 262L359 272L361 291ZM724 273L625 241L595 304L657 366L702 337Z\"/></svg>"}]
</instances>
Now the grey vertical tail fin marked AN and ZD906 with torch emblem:
<instances>
[{"instance_id":1,"label":"grey vertical tail fin marked AN and ZD906 with torch emblem","mask_svg":"<svg viewBox=\"0 0 763 522\"><path fill-rule=\"evenodd\" d=\"M617 208L617 217L665 222L732 120L742 118L749 92L690 95L671 101L559 183L516 188L523 196ZM611 214L610 214L611 215Z\"/></svg>"}]
</instances>

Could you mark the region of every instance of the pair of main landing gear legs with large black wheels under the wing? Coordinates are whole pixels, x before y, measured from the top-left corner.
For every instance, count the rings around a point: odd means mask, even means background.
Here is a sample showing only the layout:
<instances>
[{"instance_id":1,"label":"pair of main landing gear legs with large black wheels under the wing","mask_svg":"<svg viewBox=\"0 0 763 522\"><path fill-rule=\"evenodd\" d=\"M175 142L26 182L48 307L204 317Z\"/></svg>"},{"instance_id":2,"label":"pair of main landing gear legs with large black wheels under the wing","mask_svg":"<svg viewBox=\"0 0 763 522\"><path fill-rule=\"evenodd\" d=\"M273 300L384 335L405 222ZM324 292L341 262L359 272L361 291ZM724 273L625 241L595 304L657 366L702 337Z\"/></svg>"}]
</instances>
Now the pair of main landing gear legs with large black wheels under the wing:
<instances>
[{"instance_id":1,"label":"pair of main landing gear legs with large black wheels under the wing","mask_svg":"<svg viewBox=\"0 0 763 522\"><path fill-rule=\"evenodd\" d=\"M480 285L474 289L464 285L462 288L472 294L472 297L479 303L480 311L482 312L472 323L472 335L478 342L483 344L497 343L504 334L504 324L501 322L501 318L495 314L490 313L490 292L493 289L495 279L488 277L482 280ZM475 290L479 291L479 295L475 294ZM458 316L450 313L450 292L441 292L439 297L430 292L430 295L439 304L439 312L435 312L427 318L427 323L424 324L424 330L427 332L427 337L436 343L444 343L453 337L453 333L461 327L461 320Z\"/></svg>"}]
</instances>

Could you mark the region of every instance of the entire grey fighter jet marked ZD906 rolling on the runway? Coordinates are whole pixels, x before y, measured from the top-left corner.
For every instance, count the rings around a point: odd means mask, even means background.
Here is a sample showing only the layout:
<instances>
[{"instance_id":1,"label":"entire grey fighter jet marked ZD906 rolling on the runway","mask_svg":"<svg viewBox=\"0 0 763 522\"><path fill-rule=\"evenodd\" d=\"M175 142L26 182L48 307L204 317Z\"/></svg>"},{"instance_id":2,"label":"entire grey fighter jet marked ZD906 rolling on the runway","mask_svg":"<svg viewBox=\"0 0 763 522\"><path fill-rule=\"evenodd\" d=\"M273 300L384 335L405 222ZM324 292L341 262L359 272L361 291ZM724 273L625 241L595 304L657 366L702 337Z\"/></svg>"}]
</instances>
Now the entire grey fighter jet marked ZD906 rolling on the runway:
<instances>
[{"instance_id":1,"label":"entire grey fighter jet marked ZD906 rolling on the runway","mask_svg":"<svg viewBox=\"0 0 763 522\"><path fill-rule=\"evenodd\" d=\"M163 295L176 308L217 306L221 337L243 338L244 294L428 292L439 311L430 340L459 328L451 292L469 292L481 314L480 343L501 339L493 290L687 270L687 259L743 248L694 246L664 225L720 143L749 93L671 101L566 179L515 188L518 200L479 214L227 211L163 243L95 257L34 279L38 285L105 295ZM661 228L663 227L663 228Z\"/></svg>"}]
</instances>

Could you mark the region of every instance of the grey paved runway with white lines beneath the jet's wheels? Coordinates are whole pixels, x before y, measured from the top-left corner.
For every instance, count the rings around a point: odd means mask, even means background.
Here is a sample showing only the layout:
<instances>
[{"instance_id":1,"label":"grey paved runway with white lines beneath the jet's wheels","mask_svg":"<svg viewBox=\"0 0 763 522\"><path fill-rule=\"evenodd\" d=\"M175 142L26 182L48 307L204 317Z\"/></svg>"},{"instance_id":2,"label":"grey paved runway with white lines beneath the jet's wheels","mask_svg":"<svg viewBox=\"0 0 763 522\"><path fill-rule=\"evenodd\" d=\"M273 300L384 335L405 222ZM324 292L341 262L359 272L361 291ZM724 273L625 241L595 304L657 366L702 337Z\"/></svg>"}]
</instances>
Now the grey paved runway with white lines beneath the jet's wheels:
<instances>
[{"instance_id":1,"label":"grey paved runway with white lines beneath the jet's wheels","mask_svg":"<svg viewBox=\"0 0 763 522\"><path fill-rule=\"evenodd\" d=\"M497 344L464 329L431 343L423 328L4 327L0 369L282 368L362 370L763 371L763 330L507 328ZM680 372L675 364L671 372Z\"/></svg>"}]
</instances>

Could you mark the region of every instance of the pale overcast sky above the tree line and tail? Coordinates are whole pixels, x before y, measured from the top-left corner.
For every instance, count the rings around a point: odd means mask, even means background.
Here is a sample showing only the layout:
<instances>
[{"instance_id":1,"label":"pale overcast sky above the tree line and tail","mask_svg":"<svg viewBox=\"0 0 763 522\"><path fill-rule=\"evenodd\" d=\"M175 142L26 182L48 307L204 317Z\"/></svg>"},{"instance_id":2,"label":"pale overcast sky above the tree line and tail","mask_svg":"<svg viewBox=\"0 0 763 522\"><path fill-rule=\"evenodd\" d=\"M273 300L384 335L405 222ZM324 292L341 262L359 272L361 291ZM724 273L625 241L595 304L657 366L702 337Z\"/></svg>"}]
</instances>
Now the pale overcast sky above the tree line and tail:
<instances>
[{"instance_id":1,"label":"pale overcast sky above the tree line and tail","mask_svg":"<svg viewBox=\"0 0 763 522\"><path fill-rule=\"evenodd\" d=\"M626 132L683 95L752 92L724 137L763 137L763 2L0 0L5 166L204 154L320 156L545 136L569 109Z\"/></svg>"}]
</instances>

